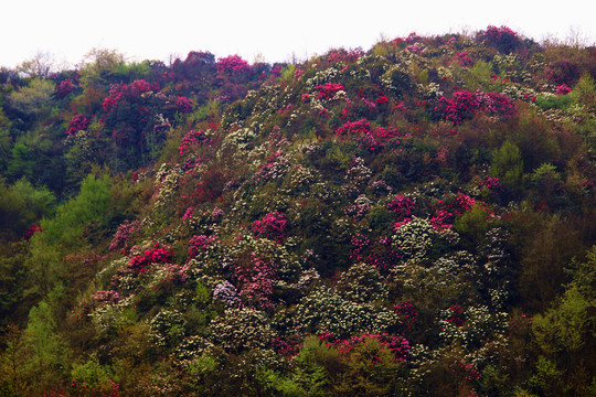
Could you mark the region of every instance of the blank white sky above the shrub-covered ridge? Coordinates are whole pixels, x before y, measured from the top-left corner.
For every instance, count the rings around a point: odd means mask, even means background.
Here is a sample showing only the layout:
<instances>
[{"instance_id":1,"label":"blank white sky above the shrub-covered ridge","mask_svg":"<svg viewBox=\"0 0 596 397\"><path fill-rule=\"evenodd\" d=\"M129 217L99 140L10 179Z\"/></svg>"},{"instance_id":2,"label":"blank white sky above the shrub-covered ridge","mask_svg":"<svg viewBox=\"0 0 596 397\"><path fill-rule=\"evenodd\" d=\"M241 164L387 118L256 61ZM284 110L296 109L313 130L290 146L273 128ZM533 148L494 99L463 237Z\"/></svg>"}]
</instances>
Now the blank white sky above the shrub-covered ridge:
<instances>
[{"instance_id":1,"label":"blank white sky above the shrub-covered ridge","mask_svg":"<svg viewBox=\"0 0 596 397\"><path fill-rule=\"evenodd\" d=\"M39 52L75 65L94 47L130 61L190 51L253 62L304 61L332 47L369 50L382 36L473 32L507 25L542 41L596 43L594 0L0 0L0 66Z\"/></svg>"}]
</instances>

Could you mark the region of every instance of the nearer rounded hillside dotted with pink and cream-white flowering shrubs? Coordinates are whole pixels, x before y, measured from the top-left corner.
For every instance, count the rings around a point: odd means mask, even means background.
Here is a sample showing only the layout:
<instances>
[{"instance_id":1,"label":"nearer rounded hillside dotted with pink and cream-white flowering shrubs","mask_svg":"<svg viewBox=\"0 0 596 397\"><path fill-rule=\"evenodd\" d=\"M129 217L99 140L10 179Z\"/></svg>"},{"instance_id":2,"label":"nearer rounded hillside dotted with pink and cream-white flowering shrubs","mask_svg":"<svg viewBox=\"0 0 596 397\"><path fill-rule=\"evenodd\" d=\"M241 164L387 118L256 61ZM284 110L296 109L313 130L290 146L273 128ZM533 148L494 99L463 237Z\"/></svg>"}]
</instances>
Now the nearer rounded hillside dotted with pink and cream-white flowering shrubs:
<instances>
[{"instance_id":1,"label":"nearer rounded hillside dotted with pink and cream-white flowering shrubs","mask_svg":"<svg viewBox=\"0 0 596 397\"><path fill-rule=\"evenodd\" d=\"M123 396L590 395L596 63L556 51L412 34L286 65L221 115L179 97L180 135L135 173L145 201L56 331L62 376ZM104 122L126 130L123 100L146 122L149 92L113 86Z\"/></svg>"}]
</instances>

